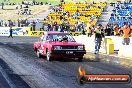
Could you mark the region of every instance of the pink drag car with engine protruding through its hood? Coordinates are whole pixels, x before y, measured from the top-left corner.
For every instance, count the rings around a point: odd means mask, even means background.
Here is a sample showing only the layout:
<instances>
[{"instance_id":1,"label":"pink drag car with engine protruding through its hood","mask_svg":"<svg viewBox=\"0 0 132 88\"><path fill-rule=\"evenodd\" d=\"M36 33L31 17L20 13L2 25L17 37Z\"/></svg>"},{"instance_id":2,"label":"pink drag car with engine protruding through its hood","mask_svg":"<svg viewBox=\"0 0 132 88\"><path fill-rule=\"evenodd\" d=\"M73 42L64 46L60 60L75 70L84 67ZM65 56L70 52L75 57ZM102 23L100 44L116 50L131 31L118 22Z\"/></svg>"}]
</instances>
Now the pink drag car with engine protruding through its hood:
<instances>
[{"instance_id":1,"label":"pink drag car with engine protruding through its hood","mask_svg":"<svg viewBox=\"0 0 132 88\"><path fill-rule=\"evenodd\" d=\"M53 58L78 58L82 61L86 50L83 44L77 43L69 33L45 32L38 42L34 43L34 51L48 61Z\"/></svg>"}]
</instances>

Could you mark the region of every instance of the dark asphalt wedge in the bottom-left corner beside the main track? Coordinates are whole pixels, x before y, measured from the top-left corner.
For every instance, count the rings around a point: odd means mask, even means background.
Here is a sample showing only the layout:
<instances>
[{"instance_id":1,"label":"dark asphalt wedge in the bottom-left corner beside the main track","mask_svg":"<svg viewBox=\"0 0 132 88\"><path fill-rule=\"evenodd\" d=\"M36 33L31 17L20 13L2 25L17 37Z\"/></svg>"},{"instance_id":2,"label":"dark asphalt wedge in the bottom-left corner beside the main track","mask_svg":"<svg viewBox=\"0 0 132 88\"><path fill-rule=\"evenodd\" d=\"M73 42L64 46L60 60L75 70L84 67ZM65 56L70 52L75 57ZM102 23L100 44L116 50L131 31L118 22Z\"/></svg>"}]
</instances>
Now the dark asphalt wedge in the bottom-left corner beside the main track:
<instances>
[{"instance_id":1,"label":"dark asphalt wedge in the bottom-left corner beside the main track","mask_svg":"<svg viewBox=\"0 0 132 88\"><path fill-rule=\"evenodd\" d=\"M4 75L7 84L0 88L31 88L18 74L14 74L13 70L0 58L0 66L2 75ZM2 82L1 82L2 83ZM5 84L6 82L2 83Z\"/></svg>"}]
</instances>

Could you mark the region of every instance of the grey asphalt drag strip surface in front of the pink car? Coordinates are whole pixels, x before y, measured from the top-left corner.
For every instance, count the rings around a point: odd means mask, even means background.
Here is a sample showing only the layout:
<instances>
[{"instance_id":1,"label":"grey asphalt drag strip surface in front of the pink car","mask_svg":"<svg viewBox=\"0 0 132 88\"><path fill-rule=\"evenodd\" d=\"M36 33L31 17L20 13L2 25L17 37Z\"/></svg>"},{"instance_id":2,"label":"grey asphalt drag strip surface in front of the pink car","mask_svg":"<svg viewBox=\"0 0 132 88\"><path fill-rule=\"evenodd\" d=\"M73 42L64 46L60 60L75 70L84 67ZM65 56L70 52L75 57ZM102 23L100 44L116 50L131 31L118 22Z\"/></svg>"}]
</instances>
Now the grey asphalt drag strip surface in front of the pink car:
<instances>
[{"instance_id":1,"label":"grey asphalt drag strip surface in front of the pink car","mask_svg":"<svg viewBox=\"0 0 132 88\"><path fill-rule=\"evenodd\" d=\"M1 44L0 58L12 69L9 77L18 83L17 88L132 88L130 84L85 84L78 85L76 73L83 66L87 73L93 74L132 74L129 69L117 65L84 60L57 59L52 62L38 58L33 44ZM6 67L6 66L3 66ZM7 72L8 73L8 72ZM21 82L23 87L19 85Z\"/></svg>"}]
</instances>

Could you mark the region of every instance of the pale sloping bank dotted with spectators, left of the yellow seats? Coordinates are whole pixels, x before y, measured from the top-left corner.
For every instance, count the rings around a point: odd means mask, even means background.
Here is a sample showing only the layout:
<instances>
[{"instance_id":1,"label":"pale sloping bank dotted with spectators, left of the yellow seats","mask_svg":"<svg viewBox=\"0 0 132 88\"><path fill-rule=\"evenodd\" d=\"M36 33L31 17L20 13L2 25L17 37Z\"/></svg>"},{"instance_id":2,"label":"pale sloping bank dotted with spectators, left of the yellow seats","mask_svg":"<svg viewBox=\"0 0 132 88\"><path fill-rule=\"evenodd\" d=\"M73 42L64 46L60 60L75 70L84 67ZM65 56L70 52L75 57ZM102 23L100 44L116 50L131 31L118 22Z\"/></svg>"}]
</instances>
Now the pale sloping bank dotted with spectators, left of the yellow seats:
<instances>
[{"instance_id":1,"label":"pale sloping bank dotted with spectators, left of the yellow seats","mask_svg":"<svg viewBox=\"0 0 132 88\"><path fill-rule=\"evenodd\" d=\"M15 27L31 27L32 30L35 31L35 29L36 29L35 26L36 26L37 21L36 20L28 20L28 17L33 16L35 13L38 13L39 10L40 11L43 10L44 9L43 7L45 5L51 5L51 4L48 2L45 2L45 3L37 2L35 0L33 0L33 1L23 0L22 2L19 2L19 3L13 3L13 2L10 3L10 1L1 3L3 10L1 10L1 12L0 12L0 14L2 15L1 20L0 20L0 27L9 27L10 25L15 26ZM12 8L16 7L16 8L10 9L10 7L12 7ZM36 8L36 7L38 7L38 8ZM39 7L41 7L41 8L39 8ZM5 13L6 10L12 11L12 12L7 14L7 13ZM35 12L35 11L38 11L38 12Z\"/></svg>"}]
</instances>

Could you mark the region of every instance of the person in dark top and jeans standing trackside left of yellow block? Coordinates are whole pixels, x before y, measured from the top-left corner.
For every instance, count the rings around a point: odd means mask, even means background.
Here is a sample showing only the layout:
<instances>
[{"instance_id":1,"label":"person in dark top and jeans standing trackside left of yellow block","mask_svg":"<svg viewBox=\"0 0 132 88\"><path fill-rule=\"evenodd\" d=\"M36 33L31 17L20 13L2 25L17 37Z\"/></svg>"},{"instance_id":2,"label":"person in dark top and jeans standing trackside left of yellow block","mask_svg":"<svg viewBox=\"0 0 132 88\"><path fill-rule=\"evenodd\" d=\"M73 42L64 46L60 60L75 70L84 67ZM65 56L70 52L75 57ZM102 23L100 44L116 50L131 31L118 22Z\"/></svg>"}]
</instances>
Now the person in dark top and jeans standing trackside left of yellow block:
<instances>
[{"instance_id":1,"label":"person in dark top and jeans standing trackside left of yellow block","mask_svg":"<svg viewBox=\"0 0 132 88\"><path fill-rule=\"evenodd\" d=\"M99 49L101 46L102 41L102 32L101 32L101 26L98 25L97 28L94 31L95 33L95 54L99 53Z\"/></svg>"}]
</instances>

